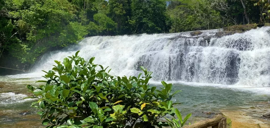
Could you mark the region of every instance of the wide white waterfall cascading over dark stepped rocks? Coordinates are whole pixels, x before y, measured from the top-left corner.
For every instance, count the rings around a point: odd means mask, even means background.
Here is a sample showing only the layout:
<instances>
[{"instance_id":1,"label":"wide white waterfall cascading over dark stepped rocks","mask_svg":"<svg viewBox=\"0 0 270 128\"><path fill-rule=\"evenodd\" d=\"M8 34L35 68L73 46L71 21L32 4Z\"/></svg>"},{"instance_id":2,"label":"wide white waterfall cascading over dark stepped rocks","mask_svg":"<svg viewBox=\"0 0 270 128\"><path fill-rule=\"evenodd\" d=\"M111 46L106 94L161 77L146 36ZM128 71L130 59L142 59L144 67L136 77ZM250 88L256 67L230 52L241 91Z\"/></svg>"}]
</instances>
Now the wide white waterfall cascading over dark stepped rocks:
<instances>
[{"instance_id":1,"label":"wide white waterfall cascading over dark stepped rocks","mask_svg":"<svg viewBox=\"0 0 270 128\"><path fill-rule=\"evenodd\" d=\"M42 56L33 71L50 70L54 60L79 55L112 68L117 76L137 75L139 66L153 80L172 80L250 87L270 84L270 27L221 35L222 30L173 34L88 37L77 45ZM221 31L221 32L220 32Z\"/></svg>"}]
</instances>

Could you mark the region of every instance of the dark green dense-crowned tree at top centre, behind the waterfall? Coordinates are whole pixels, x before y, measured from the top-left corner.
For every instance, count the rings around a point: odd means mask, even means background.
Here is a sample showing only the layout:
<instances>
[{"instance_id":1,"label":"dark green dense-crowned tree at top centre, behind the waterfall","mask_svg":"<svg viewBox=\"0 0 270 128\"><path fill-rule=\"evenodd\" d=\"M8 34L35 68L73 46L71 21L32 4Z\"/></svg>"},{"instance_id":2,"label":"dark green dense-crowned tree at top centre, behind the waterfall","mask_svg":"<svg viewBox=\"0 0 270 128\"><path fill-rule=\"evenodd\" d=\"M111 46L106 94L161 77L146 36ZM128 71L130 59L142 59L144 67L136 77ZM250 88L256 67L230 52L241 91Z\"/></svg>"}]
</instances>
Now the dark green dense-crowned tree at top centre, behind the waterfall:
<instances>
[{"instance_id":1,"label":"dark green dense-crowned tree at top centre, behind the waterfall","mask_svg":"<svg viewBox=\"0 0 270 128\"><path fill-rule=\"evenodd\" d=\"M132 0L131 19L133 34L166 33L170 21L166 16L166 3L161 0Z\"/></svg>"}]
</instances>

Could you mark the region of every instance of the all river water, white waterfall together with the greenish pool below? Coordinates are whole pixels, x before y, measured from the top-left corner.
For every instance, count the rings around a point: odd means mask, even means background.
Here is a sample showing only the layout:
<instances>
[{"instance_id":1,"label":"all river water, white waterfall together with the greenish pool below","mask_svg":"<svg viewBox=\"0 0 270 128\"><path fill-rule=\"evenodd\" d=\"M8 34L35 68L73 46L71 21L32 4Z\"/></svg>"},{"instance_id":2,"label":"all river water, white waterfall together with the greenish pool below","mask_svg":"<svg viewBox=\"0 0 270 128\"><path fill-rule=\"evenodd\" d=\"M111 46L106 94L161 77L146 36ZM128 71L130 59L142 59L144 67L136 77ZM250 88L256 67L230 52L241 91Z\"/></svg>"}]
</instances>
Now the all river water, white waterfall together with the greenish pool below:
<instances>
[{"instance_id":1,"label":"all river water, white waterfall together with the greenish pool below","mask_svg":"<svg viewBox=\"0 0 270 128\"><path fill-rule=\"evenodd\" d=\"M54 60L75 54L112 68L111 74L137 75L139 66L153 71L151 86L160 81L182 90L174 97L183 115L192 121L224 110L243 110L256 119L267 111L270 92L270 27L221 36L220 30L123 36L89 37L77 45L46 53L31 69L33 73L0 76L0 127L43 127L37 110L29 108L26 85L38 86L41 70ZM241 88L260 87L260 88ZM231 89L240 88L240 89Z\"/></svg>"}]
</instances>

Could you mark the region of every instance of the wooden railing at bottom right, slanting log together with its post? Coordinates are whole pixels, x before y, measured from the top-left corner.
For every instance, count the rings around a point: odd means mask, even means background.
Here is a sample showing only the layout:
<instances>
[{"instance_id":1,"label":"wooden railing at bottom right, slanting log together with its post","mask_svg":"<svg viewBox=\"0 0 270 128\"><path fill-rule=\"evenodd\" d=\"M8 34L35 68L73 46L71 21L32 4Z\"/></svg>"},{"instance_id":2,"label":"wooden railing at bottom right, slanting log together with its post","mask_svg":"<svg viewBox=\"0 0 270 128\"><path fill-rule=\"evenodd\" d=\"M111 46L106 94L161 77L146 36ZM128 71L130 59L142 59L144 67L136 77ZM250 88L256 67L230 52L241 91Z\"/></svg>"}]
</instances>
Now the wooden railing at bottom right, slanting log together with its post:
<instances>
[{"instance_id":1,"label":"wooden railing at bottom right, slanting log together with its post","mask_svg":"<svg viewBox=\"0 0 270 128\"><path fill-rule=\"evenodd\" d=\"M208 118L206 120L199 121L197 123L194 123L192 125L184 126L183 128L226 128L226 118L224 118L222 115L216 115L212 118Z\"/></svg>"}]
</instances>

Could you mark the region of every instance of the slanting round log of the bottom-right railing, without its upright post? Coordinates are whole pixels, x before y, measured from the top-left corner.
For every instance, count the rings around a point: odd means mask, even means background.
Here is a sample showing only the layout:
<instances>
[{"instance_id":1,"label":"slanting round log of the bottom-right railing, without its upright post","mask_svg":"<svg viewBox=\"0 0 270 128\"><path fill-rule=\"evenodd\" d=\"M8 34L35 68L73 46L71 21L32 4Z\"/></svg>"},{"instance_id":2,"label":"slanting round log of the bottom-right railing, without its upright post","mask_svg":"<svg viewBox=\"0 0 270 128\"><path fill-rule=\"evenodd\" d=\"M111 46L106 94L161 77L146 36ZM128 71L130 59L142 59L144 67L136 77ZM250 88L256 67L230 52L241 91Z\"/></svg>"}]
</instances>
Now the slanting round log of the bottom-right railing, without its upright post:
<instances>
[{"instance_id":1,"label":"slanting round log of the bottom-right railing, without its upright post","mask_svg":"<svg viewBox=\"0 0 270 128\"><path fill-rule=\"evenodd\" d=\"M199 121L199 122L194 123L192 125L184 126L183 128L207 128L207 127L215 126L221 121L222 118L223 118L222 115L216 115L216 116L213 116L212 118L208 118L206 120Z\"/></svg>"}]
</instances>

